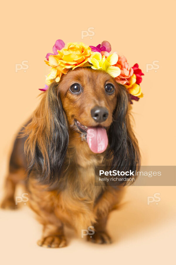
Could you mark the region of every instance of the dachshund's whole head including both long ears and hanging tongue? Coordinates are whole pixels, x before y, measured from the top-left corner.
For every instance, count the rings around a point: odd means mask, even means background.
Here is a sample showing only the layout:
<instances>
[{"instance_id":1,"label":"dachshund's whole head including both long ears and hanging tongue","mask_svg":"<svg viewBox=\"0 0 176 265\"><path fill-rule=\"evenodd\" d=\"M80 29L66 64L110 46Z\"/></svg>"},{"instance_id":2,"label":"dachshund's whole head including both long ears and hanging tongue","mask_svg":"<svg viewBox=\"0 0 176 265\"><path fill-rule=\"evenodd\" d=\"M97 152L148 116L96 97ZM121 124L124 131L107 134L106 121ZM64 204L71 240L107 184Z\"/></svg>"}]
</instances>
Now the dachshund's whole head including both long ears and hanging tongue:
<instances>
[{"instance_id":1,"label":"dachshund's whole head including both long ears and hanging tongue","mask_svg":"<svg viewBox=\"0 0 176 265\"><path fill-rule=\"evenodd\" d=\"M128 117L128 92L108 73L70 70L43 94L26 128L29 171L35 167L49 183L58 179L72 131L87 136L92 152L113 157L112 169L136 169L140 155Z\"/></svg>"}]
</instances>

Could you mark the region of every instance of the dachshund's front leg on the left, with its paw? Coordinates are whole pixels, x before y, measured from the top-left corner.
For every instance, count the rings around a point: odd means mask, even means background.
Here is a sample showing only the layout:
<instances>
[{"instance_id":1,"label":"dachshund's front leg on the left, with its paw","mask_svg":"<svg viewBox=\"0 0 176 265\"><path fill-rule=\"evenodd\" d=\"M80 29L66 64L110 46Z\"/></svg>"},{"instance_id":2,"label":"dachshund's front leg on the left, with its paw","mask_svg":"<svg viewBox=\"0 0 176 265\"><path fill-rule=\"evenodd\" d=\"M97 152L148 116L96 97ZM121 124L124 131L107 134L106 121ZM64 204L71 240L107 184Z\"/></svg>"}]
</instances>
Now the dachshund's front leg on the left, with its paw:
<instances>
[{"instance_id":1,"label":"dachshund's front leg on the left, with its paw","mask_svg":"<svg viewBox=\"0 0 176 265\"><path fill-rule=\"evenodd\" d=\"M37 220L43 225L43 233L37 244L46 248L67 246L63 222L56 215L59 201L57 191L48 191L48 186L38 180L28 179L29 207L37 214Z\"/></svg>"}]
</instances>

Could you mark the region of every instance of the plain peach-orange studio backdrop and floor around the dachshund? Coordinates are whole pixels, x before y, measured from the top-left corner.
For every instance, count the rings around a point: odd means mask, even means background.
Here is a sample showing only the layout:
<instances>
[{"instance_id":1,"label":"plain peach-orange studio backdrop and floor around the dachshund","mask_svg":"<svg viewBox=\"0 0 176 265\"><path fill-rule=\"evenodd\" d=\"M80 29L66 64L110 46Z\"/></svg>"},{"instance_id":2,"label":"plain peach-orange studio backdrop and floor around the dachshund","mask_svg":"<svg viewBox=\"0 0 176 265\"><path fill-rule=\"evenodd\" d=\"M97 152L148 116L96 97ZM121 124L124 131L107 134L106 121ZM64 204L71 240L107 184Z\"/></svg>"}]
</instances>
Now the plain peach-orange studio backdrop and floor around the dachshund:
<instances>
[{"instance_id":1,"label":"plain peach-orange studio backdrop and floor around the dachshund","mask_svg":"<svg viewBox=\"0 0 176 265\"><path fill-rule=\"evenodd\" d=\"M37 98L40 93L38 88L44 87L45 75L49 72L49 67L44 63L45 55L47 52L52 52L52 47L57 39L62 39L65 43L82 41L93 46L103 40L108 40L112 50L125 55L131 66L136 62L139 64L145 74L141 83L144 98L140 99L139 102L134 102L133 116L136 123L134 130L142 154L142 164L175 165L176 95L173 85L175 84L176 61L175 1L32 0L27 2L20 0L4 2L2 5L0 18L1 36L3 36L1 39L0 104L1 184L4 180L7 158L14 135L39 102ZM90 37L81 39L81 31L87 30L89 27L94 27L95 34L92 39ZM28 61L29 68L26 72L20 70L16 73L15 64L20 64L23 60ZM159 69L157 72L153 69L147 73L146 64L152 64L155 60L159 61ZM155 192L161 193L160 204L155 205L154 203L147 206L146 196L152 196ZM35 244L38 238L35 238L34 232L31 236L32 229L30 235L28 230L30 226L33 226L34 231L38 231L38 224L32 221L32 218L26 217L25 210L18 213L19 215L1 210L3 223L1 243L2 248L5 249L1 258L8 258L10 262L13 260L13 255L19 252L21 253L19 255L22 255L19 258L21 263L15 264L22 264L22 261L24 264L31 264L30 251L33 251L36 259L41 259L43 264L52 261L53 259L50 260L49 257L53 255L55 261L60 262L60 253L62 253L62 263L65 255L70 254L67 256L67 261L69 262L70 259L70 262L74 262L72 260L74 257L75 264L88 262L87 257L91 258L89 263L100 261L101 264L106 264L106 261L109 261L109 255L114 257L116 263L120 262L120 264L127 264L128 262L131 264L141 264L140 262L142 264L145 262L146 264L154 264L146 257L152 251L153 261L156 260L160 264L165 264L168 259L172 259L169 249L172 249L173 235L173 192L175 192L175 187L128 188L126 200L133 201L135 204L129 204L125 208L126 210L123 209L120 212L120 220L117 219L118 214L114 213L112 215L114 217L111 217L110 220L112 224L109 228L111 234L118 231L122 235L119 239L120 242L107 247L97 246L96 249L95 246L86 246L86 243L82 246L82 242L76 241L76 239L71 246L64 250L38 248ZM158 228L158 211L162 223L160 228ZM137 216L134 218L134 215L137 215L141 222L138 221ZM23 218L26 223L24 223ZM126 218L128 218L128 222L124 221ZM14 226L13 223L14 229L9 230L9 227L12 227L13 219L16 220L14 221L16 225ZM167 222L164 221L165 219ZM130 229L131 222L132 227ZM139 230L136 226L140 227ZM124 231L124 238L120 227ZM146 229L149 229L148 234ZM129 235L125 232L126 230ZM2 236L4 236L3 239ZM116 241L118 241L117 238ZM9 241L12 241L13 244L9 245ZM5 242L6 244L4 244ZM154 245L151 242L158 243ZM167 242L165 256L163 256L164 249L163 253L161 251L164 248L161 242L163 244ZM150 244L155 248L154 250L151 250ZM28 250L28 256L25 257L23 254L26 253L24 251L26 247L30 249L25 250ZM139 253L138 247L145 258ZM81 249L84 249L82 252L84 257L81 254ZM104 254L102 254L102 250L105 250ZM13 255L10 254L11 251L14 252ZM76 251L77 256L74 255L74 251ZM92 251L92 256L90 251ZM125 252L130 253L128 257ZM48 255L48 258L43 259L43 255ZM33 259L35 259L34 256ZM124 259L125 262L123 263ZM171 261L170 264L172 264Z\"/></svg>"}]
</instances>

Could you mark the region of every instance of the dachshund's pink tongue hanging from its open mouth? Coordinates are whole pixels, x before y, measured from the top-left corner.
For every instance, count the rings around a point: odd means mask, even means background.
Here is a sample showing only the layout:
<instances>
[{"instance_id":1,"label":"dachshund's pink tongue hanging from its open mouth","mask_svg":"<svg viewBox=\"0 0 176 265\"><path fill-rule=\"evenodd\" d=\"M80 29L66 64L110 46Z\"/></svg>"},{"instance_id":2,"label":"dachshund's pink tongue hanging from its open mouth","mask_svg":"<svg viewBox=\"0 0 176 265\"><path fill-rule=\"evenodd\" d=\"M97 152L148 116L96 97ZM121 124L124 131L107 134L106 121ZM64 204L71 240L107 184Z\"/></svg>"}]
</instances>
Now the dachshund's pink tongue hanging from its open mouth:
<instances>
[{"instance_id":1,"label":"dachshund's pink tongue hanging from its open mouth","mask_svg":"<svg viewBox=\"0 0 176 265\"><path fill-rule=\"evenodd\" d=\"M102 127L88 127L87 143L94 153L103 153L108 146L108 136Z\"/></svg>"}]
</instances>

